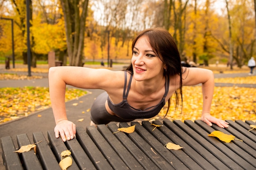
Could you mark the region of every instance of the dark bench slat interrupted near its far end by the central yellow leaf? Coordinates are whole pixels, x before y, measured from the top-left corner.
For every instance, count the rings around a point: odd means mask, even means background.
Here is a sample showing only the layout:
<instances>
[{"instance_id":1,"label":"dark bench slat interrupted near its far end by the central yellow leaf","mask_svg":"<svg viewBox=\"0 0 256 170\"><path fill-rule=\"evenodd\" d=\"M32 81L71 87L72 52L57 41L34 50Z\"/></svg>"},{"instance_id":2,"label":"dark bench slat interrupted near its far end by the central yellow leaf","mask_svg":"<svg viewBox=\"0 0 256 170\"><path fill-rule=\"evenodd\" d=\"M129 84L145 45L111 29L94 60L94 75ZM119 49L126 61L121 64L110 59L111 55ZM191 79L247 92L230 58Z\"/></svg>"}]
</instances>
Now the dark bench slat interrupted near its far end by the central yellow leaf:
<instances>
[{"instance_id":1,"label":"dark bench slat interrupted near its far end by the central yellow leaf","mask_svg":"<svg viewBox=\"0 0 256 170\"><path fill-rule=\"evenodd\" d=\"M130 127L127 123L119 123L120 128ZM169 164L155 149L153 149L137 132L127 134L128 137L162 170L173 170Z\"/></svg>"}]
</instances>

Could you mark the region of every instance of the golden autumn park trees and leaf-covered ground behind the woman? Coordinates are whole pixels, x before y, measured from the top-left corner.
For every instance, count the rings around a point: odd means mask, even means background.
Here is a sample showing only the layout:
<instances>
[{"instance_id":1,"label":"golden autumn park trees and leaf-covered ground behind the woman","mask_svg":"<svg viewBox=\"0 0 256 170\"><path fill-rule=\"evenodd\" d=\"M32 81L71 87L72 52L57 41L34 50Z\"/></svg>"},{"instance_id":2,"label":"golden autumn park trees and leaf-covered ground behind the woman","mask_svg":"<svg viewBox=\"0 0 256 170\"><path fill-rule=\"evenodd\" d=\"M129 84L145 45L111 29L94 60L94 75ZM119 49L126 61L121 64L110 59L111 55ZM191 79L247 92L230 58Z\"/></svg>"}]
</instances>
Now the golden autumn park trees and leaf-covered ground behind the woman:
<instances>
[{"instance_id":1,"label":"golden autumn park trees and leaf-covered ground behind the woman","mask_svg":"<svg viewBox=\"0 0 256 170\"><path fill-rule=\"evenodd\" d=\"M8 71L16 72L1 77L42 78L21 76L20 72L28 71L30 63L33 73L47 72L49 52L54 52L55 60L63 66L100 68L103 61L112 69L109 60L127 65L132 39L151 27L163 27L173 35L183 61L193 61L215 73L249 73L247 62L256 56L255 12L255 0L0 0L0 63L4 65L9 58L13 66ZM255 78L216 82L255 84ZM0 90L1 122L50 106L47 88ZM33 93L28 95L29 91ZM182 113L178 109L168 118L200 119L202 95L197 91L199 86L184 87L184 101L188 103L183 103ZM67 100L84 94L77 91ZM255 121L255 94L255 88L216 87L212 114ZM67 97L72 95L67 93ZM28 96L32 96L30 102Z\"/></svg>"}]
</instances>

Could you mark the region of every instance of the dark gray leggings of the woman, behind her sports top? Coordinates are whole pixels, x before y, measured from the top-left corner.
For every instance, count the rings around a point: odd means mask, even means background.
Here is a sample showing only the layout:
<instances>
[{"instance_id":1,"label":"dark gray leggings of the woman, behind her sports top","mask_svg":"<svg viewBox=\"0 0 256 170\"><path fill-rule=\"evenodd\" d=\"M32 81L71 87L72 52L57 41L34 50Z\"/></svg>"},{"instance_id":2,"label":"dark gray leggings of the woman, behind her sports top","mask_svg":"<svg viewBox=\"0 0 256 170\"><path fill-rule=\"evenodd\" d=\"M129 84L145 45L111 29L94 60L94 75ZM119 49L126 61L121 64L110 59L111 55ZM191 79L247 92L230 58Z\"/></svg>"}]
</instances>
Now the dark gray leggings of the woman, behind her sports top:
<instances>
[{"instance_id":1,"label":"dark gray leggings of the woman, behind her sports top","mask_svg":"<svg viewBox=\"0 0 256 170\"><path fill-rule=\"evenodd\" d=\"M108 113L105 103L108 98L108 93L101 93L93 102L91 108L91 120L94 124L108 124L110 121L129 122L132 120L122 119L121 117L113 116Z\"/></svg>"}]
</instances>

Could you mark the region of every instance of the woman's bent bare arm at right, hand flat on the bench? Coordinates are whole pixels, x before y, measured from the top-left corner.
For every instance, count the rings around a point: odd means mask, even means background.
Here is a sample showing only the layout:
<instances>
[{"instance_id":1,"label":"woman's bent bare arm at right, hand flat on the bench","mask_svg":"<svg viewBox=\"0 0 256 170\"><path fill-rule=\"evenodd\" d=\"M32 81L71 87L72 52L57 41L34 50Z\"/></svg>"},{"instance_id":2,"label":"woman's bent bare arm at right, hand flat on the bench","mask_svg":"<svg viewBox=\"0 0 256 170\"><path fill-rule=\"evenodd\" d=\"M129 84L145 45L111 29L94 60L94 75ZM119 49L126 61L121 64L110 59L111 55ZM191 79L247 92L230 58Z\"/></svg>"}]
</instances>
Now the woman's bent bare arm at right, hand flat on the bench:
<instances>
[{"instance_id":1,"label":"woman's bent bare arm at right, hand flat on the bench","mask_svg":"<svg viewBox=\"0 0 256 170\"><path fill-rule=\"evenodd\" d=\"M203 108L201 120L209 126L212 123L217 124L221 128L228 128L228 123L221 119L211 116L211 102L214 91L214 75L211 70L203 68L187 68L182 75L182 84L184 86L193 86L202 84Z\"/></svg>"}]
</instances>

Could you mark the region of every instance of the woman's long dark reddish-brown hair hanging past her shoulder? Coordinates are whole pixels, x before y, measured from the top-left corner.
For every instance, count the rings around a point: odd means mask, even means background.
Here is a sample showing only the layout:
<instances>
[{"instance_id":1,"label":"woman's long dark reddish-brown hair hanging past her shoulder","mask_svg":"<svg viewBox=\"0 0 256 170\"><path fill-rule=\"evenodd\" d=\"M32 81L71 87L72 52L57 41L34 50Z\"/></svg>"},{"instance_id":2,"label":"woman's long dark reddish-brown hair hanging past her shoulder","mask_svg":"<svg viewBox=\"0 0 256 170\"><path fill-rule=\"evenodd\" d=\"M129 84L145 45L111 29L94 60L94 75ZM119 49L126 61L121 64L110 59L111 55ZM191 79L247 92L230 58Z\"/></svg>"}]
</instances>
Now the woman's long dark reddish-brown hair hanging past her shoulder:
<instances>
[{"instance_id":1,"label":"woman's long dark reddish-brown hair hanging past her shoulder","mask_svg":"<svg viewBox=\"0 0 256 170\"><path fill-rule=\"evenodd\" d=\"M175 91L175 110L179 106L179 93L182 98L182 67L180 60L180 53L178 51L177 45L171 36L171 34L163 28L152 28L141 31L135 39L132 41L132 53L135 43L142 36L146 36L149 40L149 44L155 54L166 64L166 71L164 71L165 76L180 75L179 88ZM133 73L132 64L130 64L126 71ZM171 106L171 99L168 99L168 108L165 116L167 115L169 108ZM164 117L165 117L164 116Z\"/></svg>"}]
</instances>

